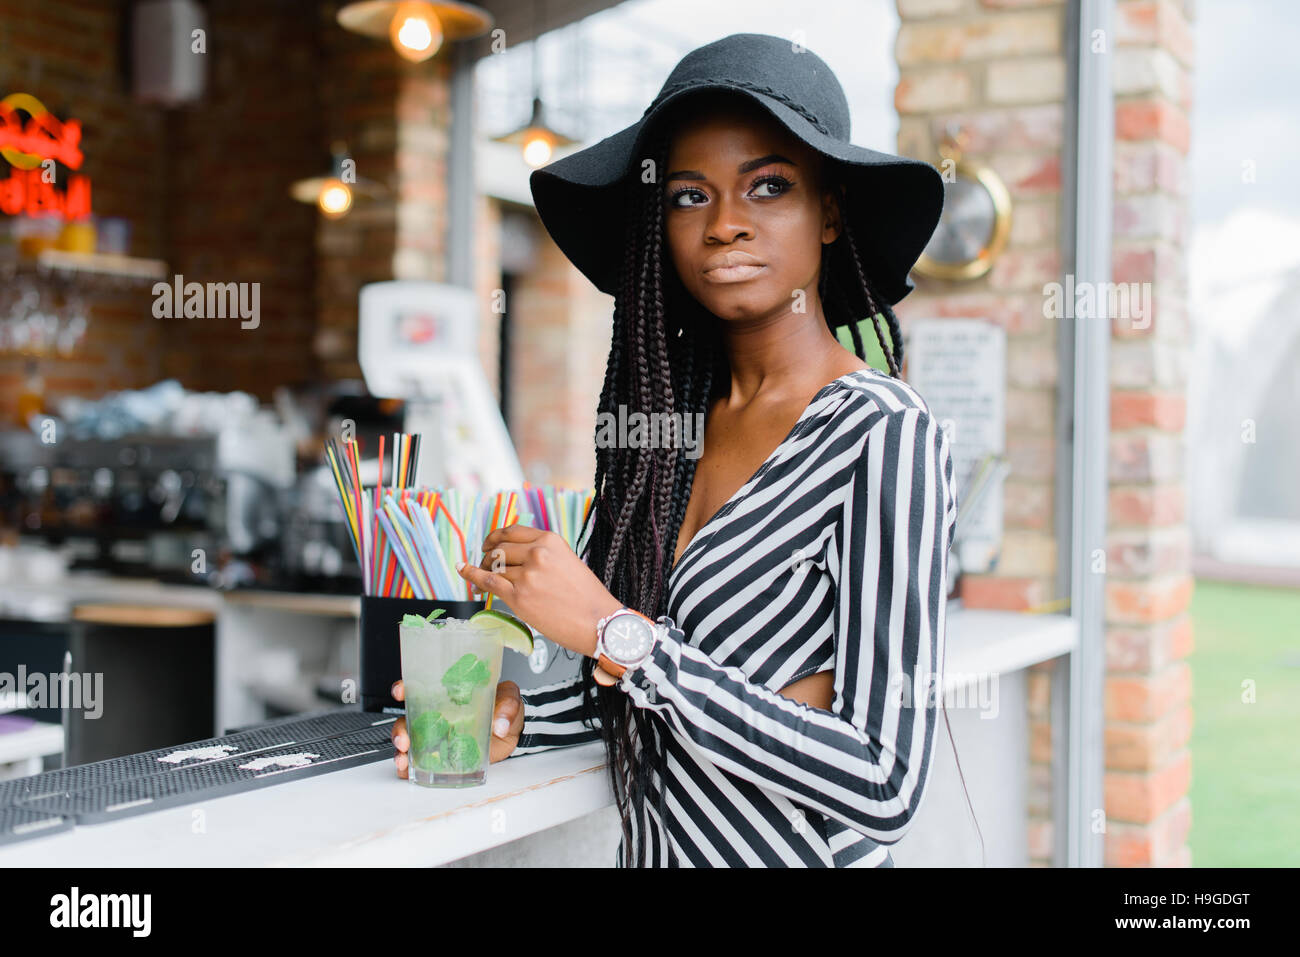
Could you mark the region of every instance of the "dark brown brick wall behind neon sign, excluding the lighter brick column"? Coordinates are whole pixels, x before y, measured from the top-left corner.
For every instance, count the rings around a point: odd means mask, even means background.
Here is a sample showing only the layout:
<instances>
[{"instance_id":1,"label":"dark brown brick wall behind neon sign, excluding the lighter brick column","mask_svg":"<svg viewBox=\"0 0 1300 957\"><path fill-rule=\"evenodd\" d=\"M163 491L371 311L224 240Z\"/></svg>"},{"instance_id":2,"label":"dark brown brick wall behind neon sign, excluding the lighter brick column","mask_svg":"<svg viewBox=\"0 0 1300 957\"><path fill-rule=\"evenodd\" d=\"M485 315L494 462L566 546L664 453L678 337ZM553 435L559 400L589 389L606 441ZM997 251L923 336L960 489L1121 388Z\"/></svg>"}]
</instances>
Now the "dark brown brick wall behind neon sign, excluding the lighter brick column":
<instances>
[{"instance_id":1,"label":"dark brown brick wall behind neon sign, excluding the lighter brick column","mask_svg":"<svg viewBox=\"0 0 1300 957\"><path fill-rule=\"evenodd\" d=\"M156 319L151 283L78 280L82 347L38 361L47 407L164 377L261 398L316 373L316 215L289 183L324 165L315 34L283 1L208 9L208 90L174 111L136 103L120 60L118 4L0 3L0 88L82 120L96 216L131 224L130 252L186 281L260 283L260 325ZM0 415L13 420L26 360L0 356Z\"/></svg>"}]
</instances>

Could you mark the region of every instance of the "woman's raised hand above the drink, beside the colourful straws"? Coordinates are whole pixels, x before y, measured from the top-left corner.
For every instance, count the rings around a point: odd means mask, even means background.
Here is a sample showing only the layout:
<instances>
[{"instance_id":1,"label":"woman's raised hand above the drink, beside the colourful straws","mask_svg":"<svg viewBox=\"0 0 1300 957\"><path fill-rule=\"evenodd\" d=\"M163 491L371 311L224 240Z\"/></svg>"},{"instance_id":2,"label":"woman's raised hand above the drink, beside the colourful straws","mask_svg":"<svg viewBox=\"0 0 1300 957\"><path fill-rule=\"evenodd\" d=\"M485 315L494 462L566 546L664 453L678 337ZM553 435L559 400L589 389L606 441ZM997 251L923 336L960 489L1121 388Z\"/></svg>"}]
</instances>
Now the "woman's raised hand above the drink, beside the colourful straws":
<instances>
[{"instance_id":1,"label":"woman's raised hand above the drink, beside the colourful straws","mask_svg":"<svg viewBox=\"0 0 1300 957\"><path fill-rule=\"evenodd\" d=\"M481 566L458 564L460 577L510 605L562 648L595 653L595 624L623 607L586 563L554 532L506 525L484 538Z\"/></svg>"}]
</instances>

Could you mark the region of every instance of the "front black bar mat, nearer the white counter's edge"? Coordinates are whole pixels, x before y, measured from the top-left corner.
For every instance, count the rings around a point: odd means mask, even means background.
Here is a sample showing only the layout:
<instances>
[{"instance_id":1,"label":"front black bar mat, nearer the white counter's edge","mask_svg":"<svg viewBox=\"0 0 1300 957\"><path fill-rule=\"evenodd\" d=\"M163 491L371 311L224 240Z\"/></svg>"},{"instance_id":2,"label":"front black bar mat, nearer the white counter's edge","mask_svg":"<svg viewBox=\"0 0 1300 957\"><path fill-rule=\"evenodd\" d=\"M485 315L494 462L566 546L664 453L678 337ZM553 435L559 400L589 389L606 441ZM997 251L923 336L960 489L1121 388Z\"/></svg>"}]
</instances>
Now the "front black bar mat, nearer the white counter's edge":
<instances>
[{"instance_id":1,"label":"front black bar mat, nearer the white counter's edge","mask_svg":"<svg viewBox=\"0 0 1300 957\"><path fill-rule=\"evenodd\" d=\"M230 754L217 761L100 784L83 791L32 797L25 801L22 807L70 815L78 824L118 820L133 814L196 804L326 771L391 761L393 754L389 728L377 726L265 752Z\"/></svg>"}]
</instances>

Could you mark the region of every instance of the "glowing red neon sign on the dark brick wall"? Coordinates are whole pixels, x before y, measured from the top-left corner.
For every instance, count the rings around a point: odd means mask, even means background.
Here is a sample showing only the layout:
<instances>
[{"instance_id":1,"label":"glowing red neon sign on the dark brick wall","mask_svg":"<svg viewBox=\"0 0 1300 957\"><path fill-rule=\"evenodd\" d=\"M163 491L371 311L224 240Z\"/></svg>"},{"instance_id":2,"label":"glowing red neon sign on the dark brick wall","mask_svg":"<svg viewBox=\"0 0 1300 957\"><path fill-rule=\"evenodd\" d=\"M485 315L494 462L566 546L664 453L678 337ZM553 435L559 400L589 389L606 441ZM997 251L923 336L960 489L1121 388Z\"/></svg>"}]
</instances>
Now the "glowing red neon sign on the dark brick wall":
<instances>
[{"instance_id":1,"label":"glowing red neon sign on the dark brick wall","mask_svg":"<svg viewBox=\"0 0 1300 957\"><path fill-rule=\"evenodd\" d=\"M26 114L26 120L22 118ZM30 94L10 94L0 100L0 156L9 163L9 177L0 179L0 212L9 216L48 216L65 220L90 216L90 178L66 177L66 190L46 182L42 164L55 160L81 169L81 122L58 120Z\"/></svg>"}]
</instances>

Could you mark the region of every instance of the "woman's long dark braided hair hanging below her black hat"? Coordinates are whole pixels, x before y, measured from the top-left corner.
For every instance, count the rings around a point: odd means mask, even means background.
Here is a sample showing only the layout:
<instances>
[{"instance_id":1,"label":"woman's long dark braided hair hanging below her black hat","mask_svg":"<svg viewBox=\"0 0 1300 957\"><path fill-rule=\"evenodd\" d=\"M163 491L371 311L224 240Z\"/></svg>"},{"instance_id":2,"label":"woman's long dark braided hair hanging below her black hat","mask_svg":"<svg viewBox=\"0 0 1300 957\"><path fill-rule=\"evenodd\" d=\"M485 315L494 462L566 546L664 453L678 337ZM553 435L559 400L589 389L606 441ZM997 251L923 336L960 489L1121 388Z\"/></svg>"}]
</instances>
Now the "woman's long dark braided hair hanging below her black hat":
<instances>
[{"instance_id":1,"label":"woman's long dark braided hair hanging below her black hat","mask_svg":"<svg viewBox=\"0 0 1300 957\"><path fill-rule=\"evenodd\" d=\"M707 412L715 386L720 389L729 381L729 365L720 320L685 290L671 264L664 265L666 199L660 170L667 169L668 142L663 134L653 140L650 159L653 177L647 182L628 177L625 185L624 260L597 412L618 415L621 404L629 415L680 413L685 420ZM829 166L827 172L833 173ZM838 189L842 200L845 190ZM889 374L898 377L902 365L898 320L889 304L874 294L846 218L840 238L822 247L818 294L831 332L848 325L854 352L863 360L858 320L863 315L861 304L866 306ZM889 329L888 341L881 317ZM681 454L673 442L663 442L658 449L601 445L598 441L595 498L582 529L586 536L582 558L615 598L658 619L667 614L667 581L690 501L696 459ZM594 667L594 659L582 658L582 718L590 727L599 716L623 827L623 862L632 866L630 815L645 822L649 801L656 809L658 826L666 827L668 820L666 789L656 791L653 783L663 780L666 761L658 741L662 731L655 724L660 719L632 705L618 685L598 685L592 677ZM636 848L637 866L646 863L645 845L646 841L640 841ZM667 846L667 863L672 866L676 863L672 841Z\"/></svg>"}]
</instances>

